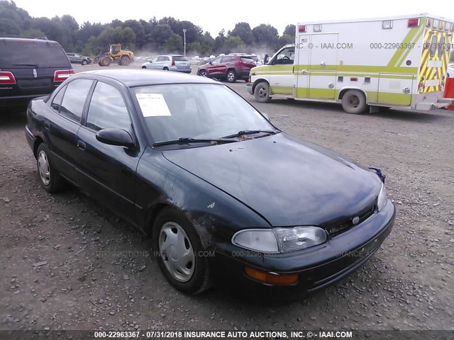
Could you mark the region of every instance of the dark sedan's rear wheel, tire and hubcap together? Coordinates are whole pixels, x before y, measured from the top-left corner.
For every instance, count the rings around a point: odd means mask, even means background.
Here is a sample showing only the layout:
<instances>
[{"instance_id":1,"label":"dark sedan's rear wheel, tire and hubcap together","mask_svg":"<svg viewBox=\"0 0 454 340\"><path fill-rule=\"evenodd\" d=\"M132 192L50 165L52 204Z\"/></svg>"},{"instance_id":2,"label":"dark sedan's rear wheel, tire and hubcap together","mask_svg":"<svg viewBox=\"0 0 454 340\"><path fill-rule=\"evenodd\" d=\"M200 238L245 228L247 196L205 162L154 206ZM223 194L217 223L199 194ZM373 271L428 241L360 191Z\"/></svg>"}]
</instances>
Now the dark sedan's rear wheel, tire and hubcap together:
<instances>
[{"instance_id":1,"label":"dark sedan's rear wheel, tire and hubcap together","mask_svg":"<svg viewBox=\"0 0 454 340\"><path fill-rule=\"evenodd\" d=\"M43 186L45 191L58 193L65 188L65 179L52 166L52 162L49 159L48 146L44 143L40 144L36 152L36 166L38 167L41 186Z\"/></svg>"}]
</instances>

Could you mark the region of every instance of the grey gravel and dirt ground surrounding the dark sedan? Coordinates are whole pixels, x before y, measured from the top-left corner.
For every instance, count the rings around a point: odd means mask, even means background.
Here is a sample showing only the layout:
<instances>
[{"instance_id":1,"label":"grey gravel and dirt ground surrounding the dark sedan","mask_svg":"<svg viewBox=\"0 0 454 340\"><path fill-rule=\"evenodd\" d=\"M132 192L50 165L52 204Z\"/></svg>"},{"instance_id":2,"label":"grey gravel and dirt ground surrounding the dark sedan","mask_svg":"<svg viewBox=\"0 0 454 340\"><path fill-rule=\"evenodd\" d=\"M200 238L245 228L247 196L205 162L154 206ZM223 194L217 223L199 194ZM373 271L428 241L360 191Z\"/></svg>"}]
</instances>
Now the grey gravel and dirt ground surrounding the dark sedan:
<instances>
[{"instance_id":1,"label":"grey gravel and dirt ground surrounding the dark sedan","mask_svg":"<svg viewBox=\"0 0 454 340\"><path fill-rule=\"evenodd\" d=\"M187 297L148 256L150 239L75 190L40 188L25 114L2 113L0 329L454 329L454 112L348 115L258 104L243 81L232 87L290 135L382 168L397 206L382 249L336 285L281 305L220 287Z\"/></svg>"}]
</instances>

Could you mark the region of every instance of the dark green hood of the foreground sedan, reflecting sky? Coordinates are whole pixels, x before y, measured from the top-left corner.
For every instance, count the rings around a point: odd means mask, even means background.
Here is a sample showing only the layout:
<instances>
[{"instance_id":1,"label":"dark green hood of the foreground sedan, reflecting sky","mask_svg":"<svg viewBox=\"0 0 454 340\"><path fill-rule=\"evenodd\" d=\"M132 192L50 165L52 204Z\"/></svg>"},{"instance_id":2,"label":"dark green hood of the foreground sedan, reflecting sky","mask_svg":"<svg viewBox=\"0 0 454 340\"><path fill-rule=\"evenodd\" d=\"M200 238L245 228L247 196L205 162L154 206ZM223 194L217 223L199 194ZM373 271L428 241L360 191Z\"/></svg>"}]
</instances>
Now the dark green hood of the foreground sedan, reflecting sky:
<instances>
[{"instance_id":1,"label":"dark green hood of the foreground sedan, reflecting sky","mask_svg":"<svg viewBox=\"0 0 454 340\"><path fill-rule=\"evenodd\" d=\"M372 207L380 193L380 179L372 171L284 133L162 153L275 227L351 218Z\"/></svg>"}]
</instances>

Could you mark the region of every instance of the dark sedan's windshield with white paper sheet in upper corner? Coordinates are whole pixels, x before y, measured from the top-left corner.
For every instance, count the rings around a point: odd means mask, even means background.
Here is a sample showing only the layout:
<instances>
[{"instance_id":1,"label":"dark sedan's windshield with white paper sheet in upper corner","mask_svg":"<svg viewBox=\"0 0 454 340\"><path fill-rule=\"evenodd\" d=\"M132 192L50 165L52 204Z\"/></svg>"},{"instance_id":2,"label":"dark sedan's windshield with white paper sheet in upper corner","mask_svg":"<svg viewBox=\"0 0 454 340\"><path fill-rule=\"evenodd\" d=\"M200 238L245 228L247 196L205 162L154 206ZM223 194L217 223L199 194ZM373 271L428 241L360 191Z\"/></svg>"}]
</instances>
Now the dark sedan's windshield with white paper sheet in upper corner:
<instances>
[{"instance_id":1,"label":"dark sedan's windshield with white paper sheet in upper corner","mask_svg":"<svg viewBox=\"0 0 454 340\"><path fill-rule=\"evenodd\" d=\"M222 84L143 86L133 91L155 145L175 145L178 140L239 140L279 132L253 106Z\"/></svg>"}]
</instances>

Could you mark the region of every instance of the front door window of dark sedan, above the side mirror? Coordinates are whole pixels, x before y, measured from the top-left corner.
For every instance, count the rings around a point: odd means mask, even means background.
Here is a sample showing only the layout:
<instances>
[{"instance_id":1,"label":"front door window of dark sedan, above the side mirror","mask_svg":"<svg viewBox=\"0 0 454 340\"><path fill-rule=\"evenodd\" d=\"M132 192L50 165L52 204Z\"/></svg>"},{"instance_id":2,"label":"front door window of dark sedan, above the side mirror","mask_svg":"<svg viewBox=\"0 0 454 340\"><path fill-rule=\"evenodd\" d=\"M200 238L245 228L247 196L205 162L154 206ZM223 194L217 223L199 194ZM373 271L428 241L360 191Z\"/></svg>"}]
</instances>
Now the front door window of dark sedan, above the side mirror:
<instances>
[{"instance_id":1,"label":"front door window of dark sedan, above the side mirror","mask_svg":"<svg viewBox=\"0 0 454 340\"><path fill-rule=\"evenodd\" d=\"M120 91L98 81L88 109L87 128L117 128L131 132L131 119Z\"/></svg>"}]
</instances>

